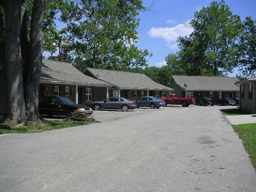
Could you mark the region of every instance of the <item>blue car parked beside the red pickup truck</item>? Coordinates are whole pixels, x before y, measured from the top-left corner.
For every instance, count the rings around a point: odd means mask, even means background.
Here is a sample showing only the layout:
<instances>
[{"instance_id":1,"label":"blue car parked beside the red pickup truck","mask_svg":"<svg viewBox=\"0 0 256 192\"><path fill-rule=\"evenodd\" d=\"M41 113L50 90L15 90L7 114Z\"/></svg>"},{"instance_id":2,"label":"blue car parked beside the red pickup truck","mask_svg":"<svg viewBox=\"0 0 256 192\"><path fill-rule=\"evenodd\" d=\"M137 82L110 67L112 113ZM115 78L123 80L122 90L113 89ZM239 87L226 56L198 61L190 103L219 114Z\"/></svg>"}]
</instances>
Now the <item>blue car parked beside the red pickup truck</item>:
<instances>
[{"instance_id":1,"label":"blue car parked beside the red pickup truck","mask_svg":"<svg viewBox=\"0 0 256 192\"><path fill-rule=\"evenodd\" d=\"M163 100L160 100L156 97L152 96L144 96L140 97L136 100L136 104L139 107L150 107L152 109L154 108L160 108L166 106L165 102Z\"/></svg>"}]
</instances>

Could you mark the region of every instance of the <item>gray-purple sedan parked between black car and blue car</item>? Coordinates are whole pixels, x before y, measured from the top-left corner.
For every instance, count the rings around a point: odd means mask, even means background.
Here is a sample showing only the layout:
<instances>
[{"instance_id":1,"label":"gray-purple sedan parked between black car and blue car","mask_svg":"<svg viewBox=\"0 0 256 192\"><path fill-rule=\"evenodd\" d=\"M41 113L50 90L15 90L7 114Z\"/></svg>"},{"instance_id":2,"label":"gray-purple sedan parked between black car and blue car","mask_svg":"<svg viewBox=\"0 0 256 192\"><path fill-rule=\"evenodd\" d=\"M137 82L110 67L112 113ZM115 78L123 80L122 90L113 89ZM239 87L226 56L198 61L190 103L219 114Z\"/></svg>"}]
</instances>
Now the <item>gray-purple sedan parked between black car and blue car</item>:
<instances>
[{"instance_id":1,"label":"gray-purple sedan parked between black car and blue car","mask_svg":"<svg viewBox=\"0 0 256 192\"><path fill-rule=\"evenodd\" d=\"M137 105L134 101L123 97L110 97L103 101L94 101L88 103L88 106L92 107L94 110L100 109L122 109L123 111L128 111L128 109L135 109Z\"/></svg>"}]
</instances>

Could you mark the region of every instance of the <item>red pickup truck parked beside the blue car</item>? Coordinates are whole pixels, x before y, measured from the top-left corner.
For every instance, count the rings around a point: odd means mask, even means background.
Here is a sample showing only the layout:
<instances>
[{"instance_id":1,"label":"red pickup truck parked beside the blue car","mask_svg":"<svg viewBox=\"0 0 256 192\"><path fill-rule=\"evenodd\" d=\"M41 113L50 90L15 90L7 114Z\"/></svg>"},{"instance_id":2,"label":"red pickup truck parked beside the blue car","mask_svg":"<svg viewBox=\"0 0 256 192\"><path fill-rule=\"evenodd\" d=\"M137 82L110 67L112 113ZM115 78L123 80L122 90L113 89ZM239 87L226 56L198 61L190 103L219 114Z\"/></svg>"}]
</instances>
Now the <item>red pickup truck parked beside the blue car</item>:
<instances>
[{"instance_id":1,"label":"red pickup truck parked beside the blue car","mask_svg":"<svg viewBox=\"0 0 256 192\"><path fill-rule=\"evenodd\" d=\"M178 98L177 94L169 94L167 97L158 98L160 100L164 100L166 105L180 105L182 107L188 107L191 104L196 102L195 98Z\"/></svg>"}]
</instances>

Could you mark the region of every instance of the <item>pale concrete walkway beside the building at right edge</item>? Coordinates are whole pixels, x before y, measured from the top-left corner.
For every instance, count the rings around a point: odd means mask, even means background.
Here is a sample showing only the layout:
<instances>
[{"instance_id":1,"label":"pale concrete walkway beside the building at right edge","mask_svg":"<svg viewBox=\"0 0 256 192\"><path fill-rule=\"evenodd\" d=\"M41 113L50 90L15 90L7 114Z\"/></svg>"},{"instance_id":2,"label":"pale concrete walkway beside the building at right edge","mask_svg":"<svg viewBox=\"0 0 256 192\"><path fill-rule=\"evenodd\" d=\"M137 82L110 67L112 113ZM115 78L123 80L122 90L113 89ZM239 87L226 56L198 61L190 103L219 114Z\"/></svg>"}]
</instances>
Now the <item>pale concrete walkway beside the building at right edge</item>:
<instances>
[{"instance_id":1,"label":"pale concrete walkway beside the building at right edge","mask_svg":"<svg viewBox=\"0 0 256 192\"><path fill-rule=\"evenodd\" d=\"M231 124L256 123L256 114L252 115L226 115Z\"/></svg>"}]
</instances>

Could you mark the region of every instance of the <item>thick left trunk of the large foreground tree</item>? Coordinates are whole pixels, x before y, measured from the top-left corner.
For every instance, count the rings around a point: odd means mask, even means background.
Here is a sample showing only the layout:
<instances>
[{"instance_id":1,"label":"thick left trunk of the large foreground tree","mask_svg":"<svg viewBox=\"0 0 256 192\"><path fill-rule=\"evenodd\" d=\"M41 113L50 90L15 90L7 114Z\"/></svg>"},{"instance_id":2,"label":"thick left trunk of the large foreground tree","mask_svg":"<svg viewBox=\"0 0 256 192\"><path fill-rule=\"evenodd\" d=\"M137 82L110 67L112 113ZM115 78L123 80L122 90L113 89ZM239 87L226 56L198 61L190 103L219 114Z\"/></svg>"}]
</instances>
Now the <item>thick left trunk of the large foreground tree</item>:
<instances>
[{"instance_id":1,"label":"thick left trunk of the large foreground tree","mask_svg":"<svg viewBox=\"0 0 256 192\"><path fill-rule=\"evenodd\" d=\"M22 121L25 118L22 58L20 50L21 0L6 3L6 70L8 92L8 118Z\"/></svg>"}]
</instances>

